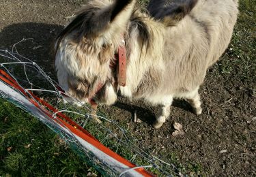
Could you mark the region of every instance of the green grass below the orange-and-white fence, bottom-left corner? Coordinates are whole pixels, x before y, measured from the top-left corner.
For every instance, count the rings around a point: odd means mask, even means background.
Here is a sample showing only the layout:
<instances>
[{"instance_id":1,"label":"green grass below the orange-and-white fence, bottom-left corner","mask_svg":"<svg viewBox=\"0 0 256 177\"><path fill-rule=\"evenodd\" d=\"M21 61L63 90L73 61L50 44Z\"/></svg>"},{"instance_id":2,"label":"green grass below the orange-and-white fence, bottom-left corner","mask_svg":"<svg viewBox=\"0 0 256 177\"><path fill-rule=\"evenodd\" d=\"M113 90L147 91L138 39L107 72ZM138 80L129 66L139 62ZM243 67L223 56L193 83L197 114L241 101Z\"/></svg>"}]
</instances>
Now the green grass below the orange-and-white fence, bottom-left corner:
<instances>
[{"instance_id":1,"label":"green grass below the orange-and-white fence, bottom-left corner","mask_svg":"<svg viewBox=\"0 0 256 177\"><path fill-rule=\"evenodd\" d=\"M40 121L0 99L0 176L83 176L89 166Z\"/></svg>"}]
</instances>

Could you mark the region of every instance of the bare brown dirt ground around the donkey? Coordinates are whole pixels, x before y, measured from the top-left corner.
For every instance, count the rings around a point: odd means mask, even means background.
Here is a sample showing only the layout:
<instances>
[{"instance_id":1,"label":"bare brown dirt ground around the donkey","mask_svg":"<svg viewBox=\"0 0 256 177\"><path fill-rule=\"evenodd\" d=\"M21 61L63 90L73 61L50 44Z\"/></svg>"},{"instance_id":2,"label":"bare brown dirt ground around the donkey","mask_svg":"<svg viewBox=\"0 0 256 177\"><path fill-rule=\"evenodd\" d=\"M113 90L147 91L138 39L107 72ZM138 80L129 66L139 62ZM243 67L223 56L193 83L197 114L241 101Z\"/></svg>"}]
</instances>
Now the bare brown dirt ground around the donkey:
<instances>
[{"instance_id":1,"label":"bare brown dirt ground around the donkey","mask_svg":"<svg viewBox=\"0 0 256 177\"><path fill-rule=\"evenodd\" d=\"M33 38L18 45L18 51L56 78L51 57L53 39L83 1L0 1L0 47L9 48L23 38ZM177 100L169 120L158 130L151 126L156 108L142 101L131 103L121 98L115 106L102 109L140 135L142 144L167 158L175 155L183 164L197 164L194 167L200 167L202 174L256 176L254 81L242 82L236 75L226 76L217 63L208 71L199 91L203 114L196 116L188 103ZM134 110L142 123L131 122ZM183 126L184 135L172 136L174 122Z\"/></svg>"}]
</instances>

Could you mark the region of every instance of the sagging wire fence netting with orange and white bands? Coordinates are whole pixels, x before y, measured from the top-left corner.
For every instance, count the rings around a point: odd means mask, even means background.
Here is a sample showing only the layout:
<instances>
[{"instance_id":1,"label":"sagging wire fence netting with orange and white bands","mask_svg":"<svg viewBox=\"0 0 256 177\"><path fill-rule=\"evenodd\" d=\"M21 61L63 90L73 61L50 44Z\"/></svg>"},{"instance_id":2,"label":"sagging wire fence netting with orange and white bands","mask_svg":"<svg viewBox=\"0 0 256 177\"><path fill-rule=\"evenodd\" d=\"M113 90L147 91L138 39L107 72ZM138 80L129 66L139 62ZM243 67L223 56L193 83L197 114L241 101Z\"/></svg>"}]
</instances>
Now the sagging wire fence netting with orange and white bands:
<instances>
[{"instance_id":1,"label":"sagging wire fence netting with orange and white bands","mask_svg":"<svg viewBox=\"0 0 256 177\"><path fill-rule=\"evenodd\" d=\"M64 104L63 99L79 101L63 93L37 63L18 54L17 44L0 49L0 97L38 118L104 176L182 176L175 164L141 148L115 120L92 114L96 110L87 104Z\"/></svg>"}]
</instances>

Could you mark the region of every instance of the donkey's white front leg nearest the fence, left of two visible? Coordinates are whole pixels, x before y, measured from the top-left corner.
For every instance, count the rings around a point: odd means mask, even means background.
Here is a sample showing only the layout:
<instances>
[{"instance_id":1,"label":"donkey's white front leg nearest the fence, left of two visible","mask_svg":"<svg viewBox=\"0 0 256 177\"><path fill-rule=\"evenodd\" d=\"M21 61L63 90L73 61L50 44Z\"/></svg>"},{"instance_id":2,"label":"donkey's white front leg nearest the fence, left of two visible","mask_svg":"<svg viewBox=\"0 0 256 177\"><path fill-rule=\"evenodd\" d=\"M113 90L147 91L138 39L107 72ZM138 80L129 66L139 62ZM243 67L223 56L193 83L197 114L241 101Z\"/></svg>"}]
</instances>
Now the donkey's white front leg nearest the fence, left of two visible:
<instances>
[{"instance_id":1,"label":"donkey's white front leg nearest the fence, left of two visible","mask_svg":"<svg viewBox=\"0 0 256 177\"><path fill-rule=\"evenodd\" d=\"M159 110L158 110L158 114L156 116L156 120L153 123L153 127L155 129L159 129L160 127L162 127L162 124L165 123L165 121L168 119L169 115L170 115L170 106L171 103L173 102L173 100L171 99L171 101L169 101L169 103L165 103L160 105Z\"/></svg>"}]
</instances>

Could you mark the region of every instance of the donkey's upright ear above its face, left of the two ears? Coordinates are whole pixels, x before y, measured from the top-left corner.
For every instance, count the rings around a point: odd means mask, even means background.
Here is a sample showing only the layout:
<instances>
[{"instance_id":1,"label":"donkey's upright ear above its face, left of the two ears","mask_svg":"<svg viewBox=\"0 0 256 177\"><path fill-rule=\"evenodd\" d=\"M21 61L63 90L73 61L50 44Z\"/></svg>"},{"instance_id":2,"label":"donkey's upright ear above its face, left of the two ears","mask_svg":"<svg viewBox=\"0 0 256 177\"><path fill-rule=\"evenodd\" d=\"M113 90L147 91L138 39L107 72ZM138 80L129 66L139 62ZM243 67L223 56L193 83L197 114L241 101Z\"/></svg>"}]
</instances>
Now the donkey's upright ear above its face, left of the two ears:
<instances>
[{"instance_id":1,"label":"donkey's upright ear above its face, left of the two ears","mask_svg":"<svg viewBox=\"0 0 256 177\"><path fill-rule=\"evenodd\" d=\"M124 33L136 0L116 0L111 5L94 11L94 15L83 23L87 35L111 39Z\"/></svg>"}]
</instances>

